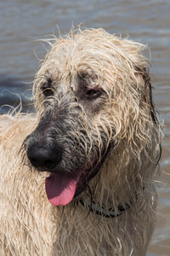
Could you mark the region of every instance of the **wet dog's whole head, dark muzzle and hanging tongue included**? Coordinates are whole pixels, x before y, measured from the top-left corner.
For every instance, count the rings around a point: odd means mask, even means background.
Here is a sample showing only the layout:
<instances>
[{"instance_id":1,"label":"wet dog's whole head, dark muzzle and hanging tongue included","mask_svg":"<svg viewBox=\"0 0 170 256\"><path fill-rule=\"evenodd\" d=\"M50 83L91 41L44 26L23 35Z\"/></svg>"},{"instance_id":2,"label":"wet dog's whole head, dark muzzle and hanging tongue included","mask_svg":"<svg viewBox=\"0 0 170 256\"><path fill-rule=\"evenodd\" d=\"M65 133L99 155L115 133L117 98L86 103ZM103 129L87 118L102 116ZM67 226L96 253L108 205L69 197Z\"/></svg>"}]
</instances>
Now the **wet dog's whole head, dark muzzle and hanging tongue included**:
<instances>
[{"instance_id":1,"label":"wet dog's whole head, dark muzzle and hanging tongue included","mask_svg":"<svg viewBox=\"0 0 170 256\"><path fill-rule=\"evenodd\" d=\"M25 147L32 166L51 172L52 204L80 195L115 148L132 148L139 121L156 121L141 48L103 30L86 31L57 41L42 63L35 79L39 124Z\"/></svg>"}]
</instances>

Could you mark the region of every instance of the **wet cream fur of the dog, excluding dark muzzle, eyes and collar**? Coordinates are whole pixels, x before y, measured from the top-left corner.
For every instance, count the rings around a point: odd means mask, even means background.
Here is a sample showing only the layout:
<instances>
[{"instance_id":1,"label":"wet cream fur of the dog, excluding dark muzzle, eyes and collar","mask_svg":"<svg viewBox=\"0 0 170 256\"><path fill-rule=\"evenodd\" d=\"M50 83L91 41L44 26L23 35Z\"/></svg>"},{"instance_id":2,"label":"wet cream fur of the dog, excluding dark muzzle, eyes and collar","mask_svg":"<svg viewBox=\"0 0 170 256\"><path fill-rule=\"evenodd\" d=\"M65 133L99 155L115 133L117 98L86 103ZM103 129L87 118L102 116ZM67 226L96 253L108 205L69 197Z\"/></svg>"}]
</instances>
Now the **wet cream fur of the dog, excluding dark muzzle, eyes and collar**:
<instances>
[{"instance_id":1,"label":"wet cream fur of the dog, excluding dark muzzle, eyes and collar","mask_svg":"<svg viewBox=\"0 0 170 256\"><path fill-rule=\"evenodd\" d=\"M144 46L102 29L71 31L65 38L54 38L51 46L35 79L37 114L0 117L0 255L144 256L156 223L155 179L161 154ZM44 186L49 173L31 167L22 150L46 111L44 103L61 104L57 92L53 99L42 95L47 74L68 97L70 89L77 90L77 73L82 71L94 74L92 87L105 90L97 112L79 103L84 130L99 144L99 152L102 131L106 147L116 143L89 187L107 212L130 205L116 218L83 207L80 199L88 197L86 190L65 207L52 206ZM73 137L75 133L74 127ZM93 143L86 146L88 156Z\"/></svg>"}]
</instances>

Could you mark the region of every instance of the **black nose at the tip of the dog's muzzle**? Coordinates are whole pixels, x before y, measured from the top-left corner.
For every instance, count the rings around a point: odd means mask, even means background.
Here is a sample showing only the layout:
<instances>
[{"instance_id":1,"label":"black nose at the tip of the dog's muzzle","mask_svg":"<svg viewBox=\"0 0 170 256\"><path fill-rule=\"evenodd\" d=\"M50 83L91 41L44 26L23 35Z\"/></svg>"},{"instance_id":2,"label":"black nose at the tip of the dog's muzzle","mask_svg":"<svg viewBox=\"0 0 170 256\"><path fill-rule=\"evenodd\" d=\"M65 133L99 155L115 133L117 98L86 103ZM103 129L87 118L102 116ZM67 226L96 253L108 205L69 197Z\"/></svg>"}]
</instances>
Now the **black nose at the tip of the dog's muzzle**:
<instances>
[{"instance_id":1,"label":"black nose at the tip of the dog's muzzle","mask_svg":"<svg viewBox=\"0 0 170 256\"><path fill-rule=\"evenodd\" d=\"M61 149L44 145L40 147L34 143L27 148L27 157L34 167L53 169L61 160Z\"/></svg>"}]
</instances>

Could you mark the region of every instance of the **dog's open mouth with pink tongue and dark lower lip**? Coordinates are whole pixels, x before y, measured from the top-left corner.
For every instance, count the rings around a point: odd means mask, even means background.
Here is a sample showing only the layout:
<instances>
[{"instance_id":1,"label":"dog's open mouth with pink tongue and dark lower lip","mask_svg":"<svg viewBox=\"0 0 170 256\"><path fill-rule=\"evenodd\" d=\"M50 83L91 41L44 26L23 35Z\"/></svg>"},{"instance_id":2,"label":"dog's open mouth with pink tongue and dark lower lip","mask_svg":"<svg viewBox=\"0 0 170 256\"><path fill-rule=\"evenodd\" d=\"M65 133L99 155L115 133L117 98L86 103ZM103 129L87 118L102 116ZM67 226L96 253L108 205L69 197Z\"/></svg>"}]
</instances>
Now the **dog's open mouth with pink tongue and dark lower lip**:
<instances>
[{"instance_id":1,"label":"dog's open mouth with pink tongue and dark lower lip","mask_svg":"<svg viewBox=\"0 0 170 256\"><path fill-rule=\"evenodd\" d=\"M51 173L45 182L48 201L54 206L65 206L77 195L80 195L103 165L108 149L102 151L103 154L100 160L94 158L93 164L90 163L86 168L77 169L74 175L64 172Z\"/></svg>"}]
</instances>

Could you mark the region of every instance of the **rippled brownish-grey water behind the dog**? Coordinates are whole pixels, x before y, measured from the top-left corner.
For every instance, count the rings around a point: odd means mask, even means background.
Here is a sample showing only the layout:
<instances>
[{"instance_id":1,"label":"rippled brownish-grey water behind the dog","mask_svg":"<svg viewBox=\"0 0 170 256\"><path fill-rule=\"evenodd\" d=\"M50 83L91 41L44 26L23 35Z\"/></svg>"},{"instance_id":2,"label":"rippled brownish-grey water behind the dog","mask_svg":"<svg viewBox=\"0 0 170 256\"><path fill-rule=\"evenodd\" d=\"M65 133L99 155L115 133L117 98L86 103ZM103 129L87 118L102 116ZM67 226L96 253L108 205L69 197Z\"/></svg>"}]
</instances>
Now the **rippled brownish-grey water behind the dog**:
<instances>
[{"instance_id":1,"label":"rippled brownish-grey water behind the dog","mask_svg":"<svg viewBox=\"0 0 170 256\"><path fill-rule=\"evenodd\" d=\"M31 81L46 50L36 40L69 32L72 24L103 27L148 44L154 102L165 125L157 225L148 256L170 255L170 1L169 0L0 0L0 106L19 96L31 110ZM147 54L149 56L149 53ZM16 94L18 96L16 96ZM1 108L6 112L8 106Z\"/></svg>"}]
</instances>

